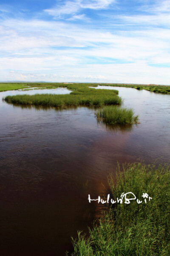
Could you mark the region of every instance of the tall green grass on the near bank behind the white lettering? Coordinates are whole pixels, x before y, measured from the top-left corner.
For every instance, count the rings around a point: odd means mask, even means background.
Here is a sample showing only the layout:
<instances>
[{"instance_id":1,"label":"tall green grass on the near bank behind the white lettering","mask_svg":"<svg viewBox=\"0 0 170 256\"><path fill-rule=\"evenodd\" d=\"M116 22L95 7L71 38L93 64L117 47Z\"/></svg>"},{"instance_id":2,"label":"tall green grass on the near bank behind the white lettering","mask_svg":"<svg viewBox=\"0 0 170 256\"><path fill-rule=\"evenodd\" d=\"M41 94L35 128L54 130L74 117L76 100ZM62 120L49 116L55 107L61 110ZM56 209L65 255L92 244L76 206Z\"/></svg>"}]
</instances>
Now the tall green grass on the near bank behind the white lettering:
<instances>
[{"instance_id":1,"label":"tall green grass on the near bank behind the white lettering","mask_svg":"<svg viewBox=\"0 0 170 256\"><path fill-rule=\"evenodd\" d=\"M122 192L133 192L143 202L113 204L99 225L89 229L88 238L78 232L71 255L169 256L170 165L128 164L122 171L118 168L116 185L112 175L108 180L114 200ZM147 204L143 193L152 198Z\"/></svg>"}]
</instances>

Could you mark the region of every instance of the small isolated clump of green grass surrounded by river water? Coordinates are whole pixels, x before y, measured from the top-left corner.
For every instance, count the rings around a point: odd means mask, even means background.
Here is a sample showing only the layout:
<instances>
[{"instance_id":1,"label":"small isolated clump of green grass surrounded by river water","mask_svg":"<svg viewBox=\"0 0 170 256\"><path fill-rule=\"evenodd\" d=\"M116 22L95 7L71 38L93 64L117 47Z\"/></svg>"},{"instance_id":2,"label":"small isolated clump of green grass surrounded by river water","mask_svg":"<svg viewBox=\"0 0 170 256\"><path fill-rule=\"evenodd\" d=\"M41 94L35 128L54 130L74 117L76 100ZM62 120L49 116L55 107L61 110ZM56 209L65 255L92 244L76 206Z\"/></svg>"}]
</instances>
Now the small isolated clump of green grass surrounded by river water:
<instances>
[{"instance_id":1,"label":"small isolated clump of green grass surrounded by river water","mask_svg":"<svg viewBox=\"0 0 170 256\"><path fill-rule=\"evenodd\" d=\"M134 124L137 123L138 116L130 108L118 108L115 106L106 106L99 109L96 113L98 119L102 119L106 124Z\"/></svg>"}]
</instances>

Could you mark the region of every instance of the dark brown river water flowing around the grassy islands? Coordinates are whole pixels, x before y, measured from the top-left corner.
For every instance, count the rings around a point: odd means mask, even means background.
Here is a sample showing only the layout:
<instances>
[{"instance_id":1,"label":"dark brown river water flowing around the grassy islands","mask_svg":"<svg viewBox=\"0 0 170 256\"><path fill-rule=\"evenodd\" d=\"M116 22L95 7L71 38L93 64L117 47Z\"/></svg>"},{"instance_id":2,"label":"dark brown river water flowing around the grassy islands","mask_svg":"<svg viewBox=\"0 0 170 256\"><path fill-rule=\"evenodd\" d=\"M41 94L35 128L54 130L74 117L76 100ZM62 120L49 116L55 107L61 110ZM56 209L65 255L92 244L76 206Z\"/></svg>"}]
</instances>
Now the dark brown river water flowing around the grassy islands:
<instances>
[{"instance_id":1,"label":"dark brown river water flowing around the grassy islands","mask_svg":"<svg viewBox=\"0 0 170 256\"><path fill-rule=\"evenodd\" d=\"M99 215L88 194L96 198L105 192L102 183L107 188L117 161L170 163L170 96L111 89L139 114L140 124L101 125L94 108L56 110L0 101L0 255L64 256L71 250L70 237L86 231ZM19 93L37 90L0 96Z\"/></svg>"}]
</instances>

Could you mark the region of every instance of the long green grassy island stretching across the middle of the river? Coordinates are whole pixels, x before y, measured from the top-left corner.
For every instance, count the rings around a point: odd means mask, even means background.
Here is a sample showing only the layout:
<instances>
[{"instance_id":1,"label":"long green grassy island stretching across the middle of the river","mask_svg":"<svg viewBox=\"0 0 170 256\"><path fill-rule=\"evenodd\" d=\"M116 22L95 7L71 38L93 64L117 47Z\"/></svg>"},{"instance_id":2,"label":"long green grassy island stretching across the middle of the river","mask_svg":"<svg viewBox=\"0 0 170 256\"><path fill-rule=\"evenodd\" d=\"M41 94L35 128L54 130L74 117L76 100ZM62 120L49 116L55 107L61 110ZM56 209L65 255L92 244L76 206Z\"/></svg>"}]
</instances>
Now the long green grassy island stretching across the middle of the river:
<instances>
[{"instance_id":1,"label":"long green grassy island stretching across the middle of the river","mask_svg":"<svg viewBox=\"0 0 170 256\"><path fill-rule=\"evenodd\" d=\"M70 94L35 94L6 96L5 101L27 105L43 105L53 107L68 106L102 106L119 105L122 99L117 90L95 90L87 85L70 84L68 89L73 90Z\"/></svg>"}]
</instances>

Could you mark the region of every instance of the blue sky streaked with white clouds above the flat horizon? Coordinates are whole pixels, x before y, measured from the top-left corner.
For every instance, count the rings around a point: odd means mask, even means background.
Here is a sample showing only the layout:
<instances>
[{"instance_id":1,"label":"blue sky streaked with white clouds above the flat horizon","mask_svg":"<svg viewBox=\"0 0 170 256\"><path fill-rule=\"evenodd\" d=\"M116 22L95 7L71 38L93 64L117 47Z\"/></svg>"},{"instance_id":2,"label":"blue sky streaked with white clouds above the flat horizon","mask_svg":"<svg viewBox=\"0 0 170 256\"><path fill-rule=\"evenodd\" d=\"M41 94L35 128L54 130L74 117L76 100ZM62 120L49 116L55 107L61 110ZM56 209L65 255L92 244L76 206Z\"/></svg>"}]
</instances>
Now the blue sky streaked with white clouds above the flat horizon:
<instances>
[{"instance_id":1,"label":"blue sky streaked with white clouds above the flat horizon","mask_svg":"<svg viewBox=\"0 0 170 256\"><path fill-rule=\"evenodd\" d=\"M170 0L0 0L0 81L170 84Z\"/></svg>"}]
</instances>

